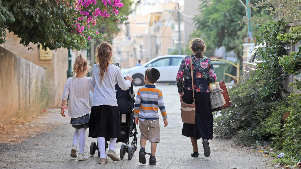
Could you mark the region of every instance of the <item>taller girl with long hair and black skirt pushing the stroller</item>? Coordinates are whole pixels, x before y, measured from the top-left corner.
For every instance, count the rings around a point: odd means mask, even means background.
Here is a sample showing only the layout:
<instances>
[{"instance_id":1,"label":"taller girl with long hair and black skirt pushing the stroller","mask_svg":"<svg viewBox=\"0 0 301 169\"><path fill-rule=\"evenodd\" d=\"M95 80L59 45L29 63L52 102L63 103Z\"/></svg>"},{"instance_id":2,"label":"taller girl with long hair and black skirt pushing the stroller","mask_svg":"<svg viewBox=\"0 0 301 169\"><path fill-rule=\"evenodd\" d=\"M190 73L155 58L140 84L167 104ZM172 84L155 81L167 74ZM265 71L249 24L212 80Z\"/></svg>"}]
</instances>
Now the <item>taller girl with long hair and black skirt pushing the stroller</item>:
<instances>
[{"instance_id":1,"label":"taller girl with long hair and black skirt pushing the stroller","mask_svg":"<svg viewBox=\"0 0 301 169\"><path fill-rule=\"evenodd\" d=\"M89 137L97 138L100 151L99 164L107 163L105 139L110 138L108 157L119 161L114 152L117 137L120 135L120 116L117 106L115 84L122 90L131 86L132 78L123 78L118 66L112 64L112 46L103 42L97 47L97 63L92 68L92 84L95 87L90 116Z\"/></svg>"}]
</instances>

